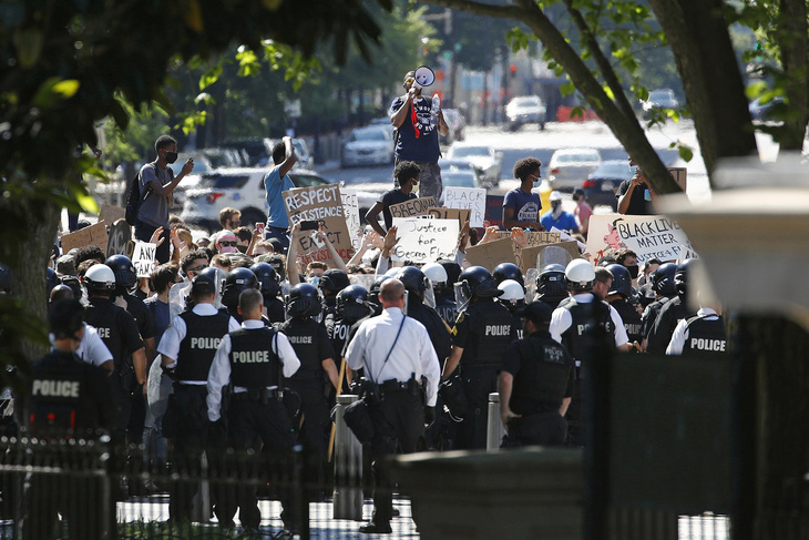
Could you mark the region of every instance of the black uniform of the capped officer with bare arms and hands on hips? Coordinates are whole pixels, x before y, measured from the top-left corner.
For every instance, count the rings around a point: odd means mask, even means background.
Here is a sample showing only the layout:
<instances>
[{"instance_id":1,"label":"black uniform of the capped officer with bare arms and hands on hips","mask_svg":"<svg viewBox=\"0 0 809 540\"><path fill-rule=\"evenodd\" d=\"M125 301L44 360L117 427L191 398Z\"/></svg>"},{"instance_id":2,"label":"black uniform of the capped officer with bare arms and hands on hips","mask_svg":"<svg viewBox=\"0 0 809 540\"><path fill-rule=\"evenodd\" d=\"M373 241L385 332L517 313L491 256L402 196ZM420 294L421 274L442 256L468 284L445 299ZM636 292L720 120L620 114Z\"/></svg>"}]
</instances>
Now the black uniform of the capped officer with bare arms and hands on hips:
<instances>
[{"instance_id":1,"label":"black uniform of the capped officer with bare arms and hands on hips","mask_svg":"<svg viewBox=\"0 0 809 540\"><path fill-rule=\"evenodd\" d=\"M520 418L509 421L504 447L564 444L567 422L559 409L573 395L573 357L547 332L509 345L501 370L514 377L509 408Z\"/></svg>"}]
</instances>

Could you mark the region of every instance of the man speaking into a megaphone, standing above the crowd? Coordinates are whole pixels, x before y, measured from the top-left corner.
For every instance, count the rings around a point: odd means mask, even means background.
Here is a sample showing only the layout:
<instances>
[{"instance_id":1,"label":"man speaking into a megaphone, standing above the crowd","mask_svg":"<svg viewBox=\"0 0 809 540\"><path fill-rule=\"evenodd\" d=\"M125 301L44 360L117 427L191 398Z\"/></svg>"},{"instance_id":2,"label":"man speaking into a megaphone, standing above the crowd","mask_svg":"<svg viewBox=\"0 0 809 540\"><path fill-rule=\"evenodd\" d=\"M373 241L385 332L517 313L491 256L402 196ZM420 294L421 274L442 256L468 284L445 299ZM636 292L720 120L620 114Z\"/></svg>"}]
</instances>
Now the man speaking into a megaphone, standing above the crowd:
<instances>
[{"instance_id":1,"label":"man speaking into a megaphone, standing above the crowd","mask_svg":"<svg viewBox=\"0 0 809 540\"><path fill-rule=\"evenodd\" d=\"M441 169L438 159L438 134L447 135L449 126L441 112L438 94L432 100L421 95L423 86L436 81L436 74L427 65L408 71L402 86L407 92L390 104L390 122L397 129L396 163L414 161L421 169L419 196L441 197Z\"/></svg>"}]
</instances>

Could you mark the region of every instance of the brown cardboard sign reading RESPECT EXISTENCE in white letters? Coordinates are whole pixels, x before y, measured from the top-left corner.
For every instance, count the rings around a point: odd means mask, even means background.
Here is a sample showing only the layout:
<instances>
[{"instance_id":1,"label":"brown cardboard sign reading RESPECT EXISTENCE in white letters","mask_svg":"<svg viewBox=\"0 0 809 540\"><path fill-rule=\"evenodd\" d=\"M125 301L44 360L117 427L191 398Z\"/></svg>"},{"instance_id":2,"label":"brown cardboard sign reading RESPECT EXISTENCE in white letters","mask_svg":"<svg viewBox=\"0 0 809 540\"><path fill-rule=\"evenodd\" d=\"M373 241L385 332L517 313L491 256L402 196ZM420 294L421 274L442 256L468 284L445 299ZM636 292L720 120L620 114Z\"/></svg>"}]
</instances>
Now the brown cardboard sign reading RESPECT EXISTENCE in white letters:
<instances>
[{"instance_id":1,"label":"brown cardboard sign reading RESPECT EXISTENCE in white letters","mask_svg":"<svg viewBox=\"0 0 809 540\"><path fill-rule=\"evenodd\" d=\"M283 195L290 223L320 222L324 232L337 249L340 258L348 261L354 256L355 249L348 234L346 208L342 205L342 196L338 184L296 187L285 191ZM331 261L328 249L325 246L319 246L310 235L303 236L298 242L299 261L304 265L313 261L322 261L327 264Z\"/></svg>"}]
</instances>

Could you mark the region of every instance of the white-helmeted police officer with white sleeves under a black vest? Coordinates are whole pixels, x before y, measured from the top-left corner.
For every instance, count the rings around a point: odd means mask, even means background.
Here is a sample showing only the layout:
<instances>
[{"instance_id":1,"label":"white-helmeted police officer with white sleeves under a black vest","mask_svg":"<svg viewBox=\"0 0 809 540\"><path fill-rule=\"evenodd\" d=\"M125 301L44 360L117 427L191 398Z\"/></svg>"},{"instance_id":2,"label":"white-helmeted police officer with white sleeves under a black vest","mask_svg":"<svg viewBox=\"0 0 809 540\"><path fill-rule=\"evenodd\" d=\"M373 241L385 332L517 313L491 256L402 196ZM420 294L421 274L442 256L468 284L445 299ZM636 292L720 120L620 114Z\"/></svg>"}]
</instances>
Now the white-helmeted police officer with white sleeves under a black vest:
<instances>
[{"instance_id":1,"label":"white-helmeted police officer with white sleeves under a black vest","mask_svg":"<svg viewBox=\"0 0 809 540\"><path fill-rule=\"evenodd\" d=\"M582 381L587 377L588 363L595 360L590 354L590 343L595 338L594 328L600 327L605 337L600 344L602 347L629 350L621 315L592 293L595 281L595 269L590 262L583 258L572 261L565 268L565 284L571 297L551 316L551 337L565 346L576 365L576 384L567 409L567 442L571 446L584 445Z\"/></svg>"}]
</instances>

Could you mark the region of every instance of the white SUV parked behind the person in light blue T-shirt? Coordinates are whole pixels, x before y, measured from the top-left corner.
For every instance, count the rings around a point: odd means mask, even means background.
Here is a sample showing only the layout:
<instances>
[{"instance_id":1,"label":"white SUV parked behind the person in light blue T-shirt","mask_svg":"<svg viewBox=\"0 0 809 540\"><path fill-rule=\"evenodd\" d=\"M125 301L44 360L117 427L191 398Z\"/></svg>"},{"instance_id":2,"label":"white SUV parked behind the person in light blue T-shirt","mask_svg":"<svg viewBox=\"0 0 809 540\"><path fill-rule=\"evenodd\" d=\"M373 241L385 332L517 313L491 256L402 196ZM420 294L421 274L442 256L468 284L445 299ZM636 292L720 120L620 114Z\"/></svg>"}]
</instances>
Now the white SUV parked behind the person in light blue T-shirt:
<instances>
[{"instance_id":1,"label":"white SUV parked behind the person in light blue T-shirt","mask_svg":"<svg viewBox=\"0 0 809 540\"><path fill-rule=\"evenodd\" d=\"M209 231L219 228L219 211L242 211L242 224L254 226L267 221L267 193L264 176L272 167L222 169L203 174L196 189L188 190L181 217L188 224ZM296 187L328 184L315 171L293 169L289 177Z\"/></svg>"}]
</instances>

